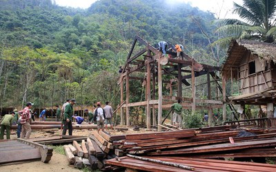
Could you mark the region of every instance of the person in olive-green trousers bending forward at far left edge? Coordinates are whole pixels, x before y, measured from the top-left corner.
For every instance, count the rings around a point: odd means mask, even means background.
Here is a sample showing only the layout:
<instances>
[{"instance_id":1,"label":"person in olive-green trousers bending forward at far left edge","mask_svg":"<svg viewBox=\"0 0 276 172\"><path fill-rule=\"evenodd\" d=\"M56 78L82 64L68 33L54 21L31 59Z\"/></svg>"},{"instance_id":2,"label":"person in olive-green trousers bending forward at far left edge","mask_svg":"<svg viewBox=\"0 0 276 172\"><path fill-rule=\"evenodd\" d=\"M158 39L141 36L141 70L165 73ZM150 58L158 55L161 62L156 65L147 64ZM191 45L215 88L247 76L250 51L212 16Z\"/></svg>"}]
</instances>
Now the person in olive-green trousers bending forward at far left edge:
<instances>
[{"instance_id":1,"label":"person in olive-green trousers bending forward at far left edge","mask_svg":"<svg viewBox=\"0 0 276 172\"><path fill-rule=\"evenodd\" d=\"M4 131L6 129L7 139L10 139L10 127L12 126L12 119L14 117L14 111L10 114L6 114L3 119L1 120L1 133L0 133L0 140L4 139Z\"/></svg>"}]
</instances>

